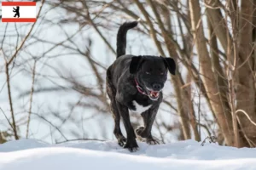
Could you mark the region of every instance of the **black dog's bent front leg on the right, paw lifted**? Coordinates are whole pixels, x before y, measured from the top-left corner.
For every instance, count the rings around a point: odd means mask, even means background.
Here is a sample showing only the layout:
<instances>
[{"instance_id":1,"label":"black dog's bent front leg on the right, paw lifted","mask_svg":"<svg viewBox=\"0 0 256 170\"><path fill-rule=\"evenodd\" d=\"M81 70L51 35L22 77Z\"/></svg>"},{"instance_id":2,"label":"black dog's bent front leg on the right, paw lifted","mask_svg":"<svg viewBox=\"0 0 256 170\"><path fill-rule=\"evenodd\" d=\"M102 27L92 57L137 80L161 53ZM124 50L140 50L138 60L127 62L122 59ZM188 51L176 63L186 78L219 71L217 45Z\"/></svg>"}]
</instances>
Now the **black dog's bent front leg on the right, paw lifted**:
<instances>
[{"instance_id":1,"label":"black dog's bent front leg on the right, paw lifted","mask_svg":"<svg viewBox=\"0 0 256 170\"><path fill-rule=\"evenodd\" d=\"M157 114L159 106L150 108L148 111L142 113L144 127L138 127L136 129L137 135L146 139L148 144L159 144L157 139L154 139L151 134L151 129L154 123L155 116Z\"/></svg>"}]
</instances>

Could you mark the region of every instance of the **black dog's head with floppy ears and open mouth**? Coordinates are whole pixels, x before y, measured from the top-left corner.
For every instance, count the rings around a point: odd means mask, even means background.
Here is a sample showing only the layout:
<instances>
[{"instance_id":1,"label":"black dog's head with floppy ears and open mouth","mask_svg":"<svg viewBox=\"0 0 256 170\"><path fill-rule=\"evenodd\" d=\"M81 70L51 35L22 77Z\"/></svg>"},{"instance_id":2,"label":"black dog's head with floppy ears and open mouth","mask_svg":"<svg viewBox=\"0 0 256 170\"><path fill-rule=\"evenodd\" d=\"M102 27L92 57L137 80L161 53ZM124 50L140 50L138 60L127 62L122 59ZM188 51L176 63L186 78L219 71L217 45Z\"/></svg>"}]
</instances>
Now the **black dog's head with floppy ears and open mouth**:
<instances>
[{"instance_id":1,"label":"black dog's head with floppy ears and open mouth","mask_svg":"<svg viewBox=\"0 0 256 170\"><path fill-rule=\"evenodd\" d=\"M135 74L137 82L152 100L159 98L164 88L167 71L175 75L176 65L172 58L156 56L136 56L131 58L130 73Z\"/></svg>"}]
</instances>

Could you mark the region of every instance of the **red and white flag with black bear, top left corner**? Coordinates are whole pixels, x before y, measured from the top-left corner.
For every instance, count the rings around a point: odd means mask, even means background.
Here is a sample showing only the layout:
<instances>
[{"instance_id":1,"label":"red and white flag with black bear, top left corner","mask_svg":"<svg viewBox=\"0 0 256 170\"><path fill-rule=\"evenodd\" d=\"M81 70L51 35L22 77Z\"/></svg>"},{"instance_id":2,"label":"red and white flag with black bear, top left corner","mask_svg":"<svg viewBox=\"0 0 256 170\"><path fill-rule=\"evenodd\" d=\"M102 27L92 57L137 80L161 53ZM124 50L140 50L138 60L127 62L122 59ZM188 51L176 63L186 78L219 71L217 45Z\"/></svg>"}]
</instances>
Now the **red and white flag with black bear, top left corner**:
<instances>
[{"instance_id":1,"label":"red and white flag with black bear, top left corner","mask_svg":"<svg viewBox=\"0 0 256 170\"><path fill-rule=\"evenodd\" d=\"M36 2L2 2L2 22L36 22Z\"/></svg>"}]
</instances>

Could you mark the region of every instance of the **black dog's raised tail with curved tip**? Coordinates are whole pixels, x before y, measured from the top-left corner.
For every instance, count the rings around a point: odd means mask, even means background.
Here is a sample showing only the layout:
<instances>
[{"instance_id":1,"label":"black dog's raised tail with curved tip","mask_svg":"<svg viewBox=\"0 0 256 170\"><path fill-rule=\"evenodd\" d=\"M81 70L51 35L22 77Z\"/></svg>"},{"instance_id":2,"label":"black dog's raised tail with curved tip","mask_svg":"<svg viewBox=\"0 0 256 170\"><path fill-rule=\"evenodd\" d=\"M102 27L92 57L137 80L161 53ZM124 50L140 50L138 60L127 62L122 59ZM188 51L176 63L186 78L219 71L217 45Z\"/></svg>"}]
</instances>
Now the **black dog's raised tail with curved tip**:
<instances>
[{"instance_id":1,"label":"black dog's raised tail with curved tip","mask_svg":"<svg viewBox=\"0 0 256 170\"><path fill-rule=\"evenodd\" d=\"M137 21L133 22L125 22L122 26L119 27L118 35L117 35L117 42L116 42L116 53L117 56L116 58L119 58L119 56L125 54L125 49L126 49L126 34L127 31L130 30L131 28L134 28L137 26L137 23L140 19Z\"/></svg>"}]
</instances>

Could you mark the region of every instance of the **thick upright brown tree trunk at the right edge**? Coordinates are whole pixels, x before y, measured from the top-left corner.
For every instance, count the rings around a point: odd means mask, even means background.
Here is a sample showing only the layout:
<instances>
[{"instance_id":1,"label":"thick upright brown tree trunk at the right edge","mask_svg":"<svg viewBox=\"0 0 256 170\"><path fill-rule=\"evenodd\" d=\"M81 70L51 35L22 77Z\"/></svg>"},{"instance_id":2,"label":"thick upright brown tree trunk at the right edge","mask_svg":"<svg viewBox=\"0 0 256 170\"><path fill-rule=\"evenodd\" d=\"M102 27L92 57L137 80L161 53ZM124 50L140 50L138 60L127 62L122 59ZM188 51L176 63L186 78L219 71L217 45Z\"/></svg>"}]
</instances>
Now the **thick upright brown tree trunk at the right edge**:
<instances>
[{"instance_id":1,"label":"thick upright brown tree trunk at the right edge","mask_svg":"<svg viewBox=\"0 0 256 170\"><path fill-rule=\"evenodd\" d=\"M241 1L240 24L239 24L239 59L237 60L236 68L238 74L238 85L236 89L237 110L247 112L247 115L255 122L255 87L253 76L253 3L252 1ZM240 126L245 132L247 138L256 144L256 127L249 122L247 116L238 112ZM248 146L246 140L240 141L240 147Z\"/></svg>"}]
</instances>

